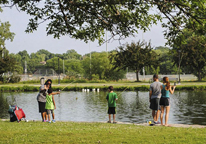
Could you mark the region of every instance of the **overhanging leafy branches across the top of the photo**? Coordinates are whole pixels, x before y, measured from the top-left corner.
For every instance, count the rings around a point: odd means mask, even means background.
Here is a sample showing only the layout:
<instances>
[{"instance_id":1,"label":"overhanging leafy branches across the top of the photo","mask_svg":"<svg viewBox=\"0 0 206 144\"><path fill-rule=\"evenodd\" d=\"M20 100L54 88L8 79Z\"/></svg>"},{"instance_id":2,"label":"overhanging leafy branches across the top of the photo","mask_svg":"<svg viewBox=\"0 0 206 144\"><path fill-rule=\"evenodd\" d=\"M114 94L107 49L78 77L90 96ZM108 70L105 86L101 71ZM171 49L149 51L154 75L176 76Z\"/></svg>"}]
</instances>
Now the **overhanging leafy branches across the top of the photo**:
<instances>
[{"instance_id":1,"label":"overhanging leafy branches across the top of the photo","mask_svg":"<svg viewBox=\"0 0 206 144\"><path fill-rule=\"evenodd\" d=\"M111 38L128 37L138 29L149 30L152 24L166 18L163 23L166 37L174 37L185 23L206 30L206 0L3 0L2 4L16 5L30 14L26 32L37 30L43 22L48 22L48 35L103 42L105 31ZM10 5L8 5L10 4ZM157 9L156 13L149 10Z\"/></svg>"}]
</instances>

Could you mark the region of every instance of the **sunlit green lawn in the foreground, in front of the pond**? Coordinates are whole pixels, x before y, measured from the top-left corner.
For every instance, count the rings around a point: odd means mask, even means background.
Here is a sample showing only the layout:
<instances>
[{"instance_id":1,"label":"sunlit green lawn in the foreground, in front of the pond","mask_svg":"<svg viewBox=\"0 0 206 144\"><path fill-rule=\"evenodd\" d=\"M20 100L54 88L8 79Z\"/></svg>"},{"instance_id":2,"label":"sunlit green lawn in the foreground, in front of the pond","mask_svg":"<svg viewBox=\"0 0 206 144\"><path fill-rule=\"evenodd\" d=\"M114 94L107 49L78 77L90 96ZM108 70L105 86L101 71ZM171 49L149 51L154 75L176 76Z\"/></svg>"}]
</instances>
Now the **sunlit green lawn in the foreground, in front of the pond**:
<instances>
[{"instance_id":1,"label":"sunlit green lawn in the foreground, in front of the pond","mask_svg":"<svg viewBox=\"0 0 206 144\"><path fill-rule=\"evenodd\" d=\"M0 121L0 143L205 143L206 128Z\"/></svg>"}]
</instances>

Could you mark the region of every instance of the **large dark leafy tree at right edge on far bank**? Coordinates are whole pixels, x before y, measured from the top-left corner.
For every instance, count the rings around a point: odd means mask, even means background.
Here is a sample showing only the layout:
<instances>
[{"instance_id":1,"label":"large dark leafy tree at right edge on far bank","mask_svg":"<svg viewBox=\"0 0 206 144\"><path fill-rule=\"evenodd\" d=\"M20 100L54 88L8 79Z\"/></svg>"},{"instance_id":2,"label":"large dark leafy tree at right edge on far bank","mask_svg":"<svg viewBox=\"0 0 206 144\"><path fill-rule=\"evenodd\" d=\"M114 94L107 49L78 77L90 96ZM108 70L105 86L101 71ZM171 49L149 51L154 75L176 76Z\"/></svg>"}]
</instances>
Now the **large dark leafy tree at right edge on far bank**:
<instances>
[{"instance_id":1,"label":"large dark leafy tree at right edge on far bank","mask_svg":"<svg viewBox=\"0 0 206 144\"><path fill-rule=\"evenodd\" d=\"M174 41L173 60L191 72L201 81L206 76L206 37L197 35L193 30L185 29Z\"/></svg>"}]
</instances>

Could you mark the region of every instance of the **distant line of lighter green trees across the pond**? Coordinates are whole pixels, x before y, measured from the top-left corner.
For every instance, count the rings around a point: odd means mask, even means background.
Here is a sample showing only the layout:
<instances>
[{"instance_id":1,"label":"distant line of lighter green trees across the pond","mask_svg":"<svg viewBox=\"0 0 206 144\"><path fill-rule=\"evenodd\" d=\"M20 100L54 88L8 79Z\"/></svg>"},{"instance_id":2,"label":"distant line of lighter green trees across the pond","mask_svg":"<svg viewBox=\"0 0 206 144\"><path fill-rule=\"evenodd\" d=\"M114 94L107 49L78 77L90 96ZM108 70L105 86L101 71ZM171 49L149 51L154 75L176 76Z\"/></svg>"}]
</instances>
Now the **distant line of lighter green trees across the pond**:
<instances>
[{"instance_id":1,"label":"distant line of lighter green trees across the pond","mask_svg":"<svg viewBox=\"0 0 206 144\"><path fill-rule=\"evenodd\" d=\"M177 74L178 67L172 62L169 50L168 47L156 47L153 51L158 55L159 64L158 66L145 67L145 74ZM11 53L9 56L17 62L16 71L19 74L25 73L25 67L27 74L33 74L38 69L52 68L57 74L65 73L69 78L84 77L94 80L119 80L125 78L126 72L134 72L129 67L126 70L113 69L108 59L108 55L113 52L91 52L91 61L90 54L82 56L74 49L68 50L63 54L54 54L44 49L28 54L24 50L17 54ZM188 69L181 69L181 72L191 73ZM140 73L142 74L143 71L140 70Z\"/></svg>"}]
</instances>

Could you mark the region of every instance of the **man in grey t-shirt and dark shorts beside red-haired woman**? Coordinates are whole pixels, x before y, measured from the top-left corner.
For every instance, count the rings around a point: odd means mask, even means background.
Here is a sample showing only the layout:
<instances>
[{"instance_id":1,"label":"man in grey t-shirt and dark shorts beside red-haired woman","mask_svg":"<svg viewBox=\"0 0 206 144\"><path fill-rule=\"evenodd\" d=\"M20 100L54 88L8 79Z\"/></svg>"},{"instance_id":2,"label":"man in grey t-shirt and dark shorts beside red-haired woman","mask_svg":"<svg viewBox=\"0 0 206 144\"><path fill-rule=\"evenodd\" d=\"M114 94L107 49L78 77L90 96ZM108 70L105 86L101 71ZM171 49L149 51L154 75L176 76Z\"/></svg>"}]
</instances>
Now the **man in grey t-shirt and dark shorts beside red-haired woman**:
<instances>
[{"instance_id":1,"label":"man in grey t-shirt and dark shorts beside red-haired woman","mask_svg":"<svg viewBox=\"0 0 206 144\"><path fill-rule=\"evenodd\" d=\"M161 98L161 90L162 83L158 80L158 75L153 75L153 83L150 85L149 90L149 102L150 109L152 109L152 117L154 119L154 124L159 124L158 118L160 115L160 98Z\"/></svg>"}]
</instances>

